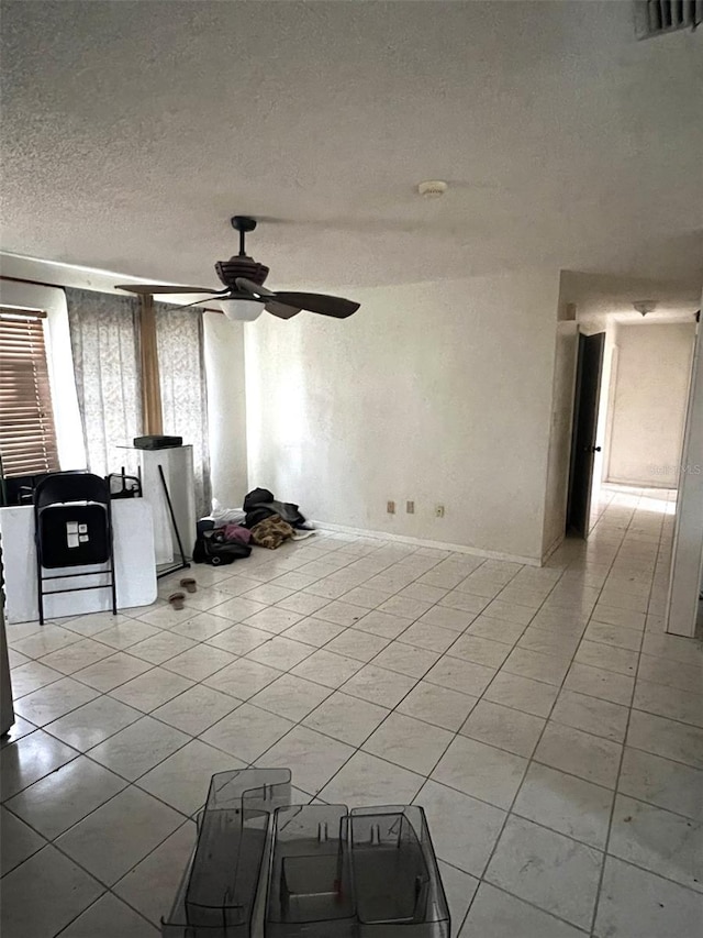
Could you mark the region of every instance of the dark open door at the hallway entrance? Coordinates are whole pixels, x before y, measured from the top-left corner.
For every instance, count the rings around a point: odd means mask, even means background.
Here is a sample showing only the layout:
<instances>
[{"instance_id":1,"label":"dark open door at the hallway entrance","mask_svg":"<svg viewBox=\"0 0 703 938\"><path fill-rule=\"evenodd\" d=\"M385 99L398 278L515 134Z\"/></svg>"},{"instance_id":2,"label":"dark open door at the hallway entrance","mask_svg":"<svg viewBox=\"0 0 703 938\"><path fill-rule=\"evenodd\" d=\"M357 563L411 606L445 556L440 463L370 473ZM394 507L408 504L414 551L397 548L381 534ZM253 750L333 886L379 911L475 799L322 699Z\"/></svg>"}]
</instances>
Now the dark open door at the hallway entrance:
<instances>
[{"instance_id":1,"label":"dark open door at the hallway entrance","mask_svg":"<svg viewBox=\"0 0 703 938\"><path fill-rule=\"evenodd\" d=\"M579 335L567 531L580 534L582 538L589 534L593 461L595 453L601 449L595 440L595 432L601 399L604 345L604 332L599 332L596 335Z\"/></svg>"}]
</instances>

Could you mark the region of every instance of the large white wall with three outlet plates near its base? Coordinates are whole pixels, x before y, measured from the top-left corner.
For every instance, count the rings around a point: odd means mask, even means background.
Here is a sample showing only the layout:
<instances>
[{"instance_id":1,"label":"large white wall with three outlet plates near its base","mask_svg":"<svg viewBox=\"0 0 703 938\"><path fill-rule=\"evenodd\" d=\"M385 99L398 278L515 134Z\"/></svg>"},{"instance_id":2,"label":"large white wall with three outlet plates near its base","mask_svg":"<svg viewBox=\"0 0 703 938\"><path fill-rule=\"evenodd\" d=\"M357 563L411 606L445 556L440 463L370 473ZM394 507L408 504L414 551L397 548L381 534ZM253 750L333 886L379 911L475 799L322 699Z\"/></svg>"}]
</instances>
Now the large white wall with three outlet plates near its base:
<instances>
[{"instance_id":1,"label":"large white wall with three outlet plates near its base","mask_svg":"<svg viewBox=\"0 0 703 938\"><path fill-rule=\"evenodd\" d=\"M558 288L531 272L355 290L344 321L246 325L249 485L323 522L538 562Z\"/></svg>"}]
</instances>

